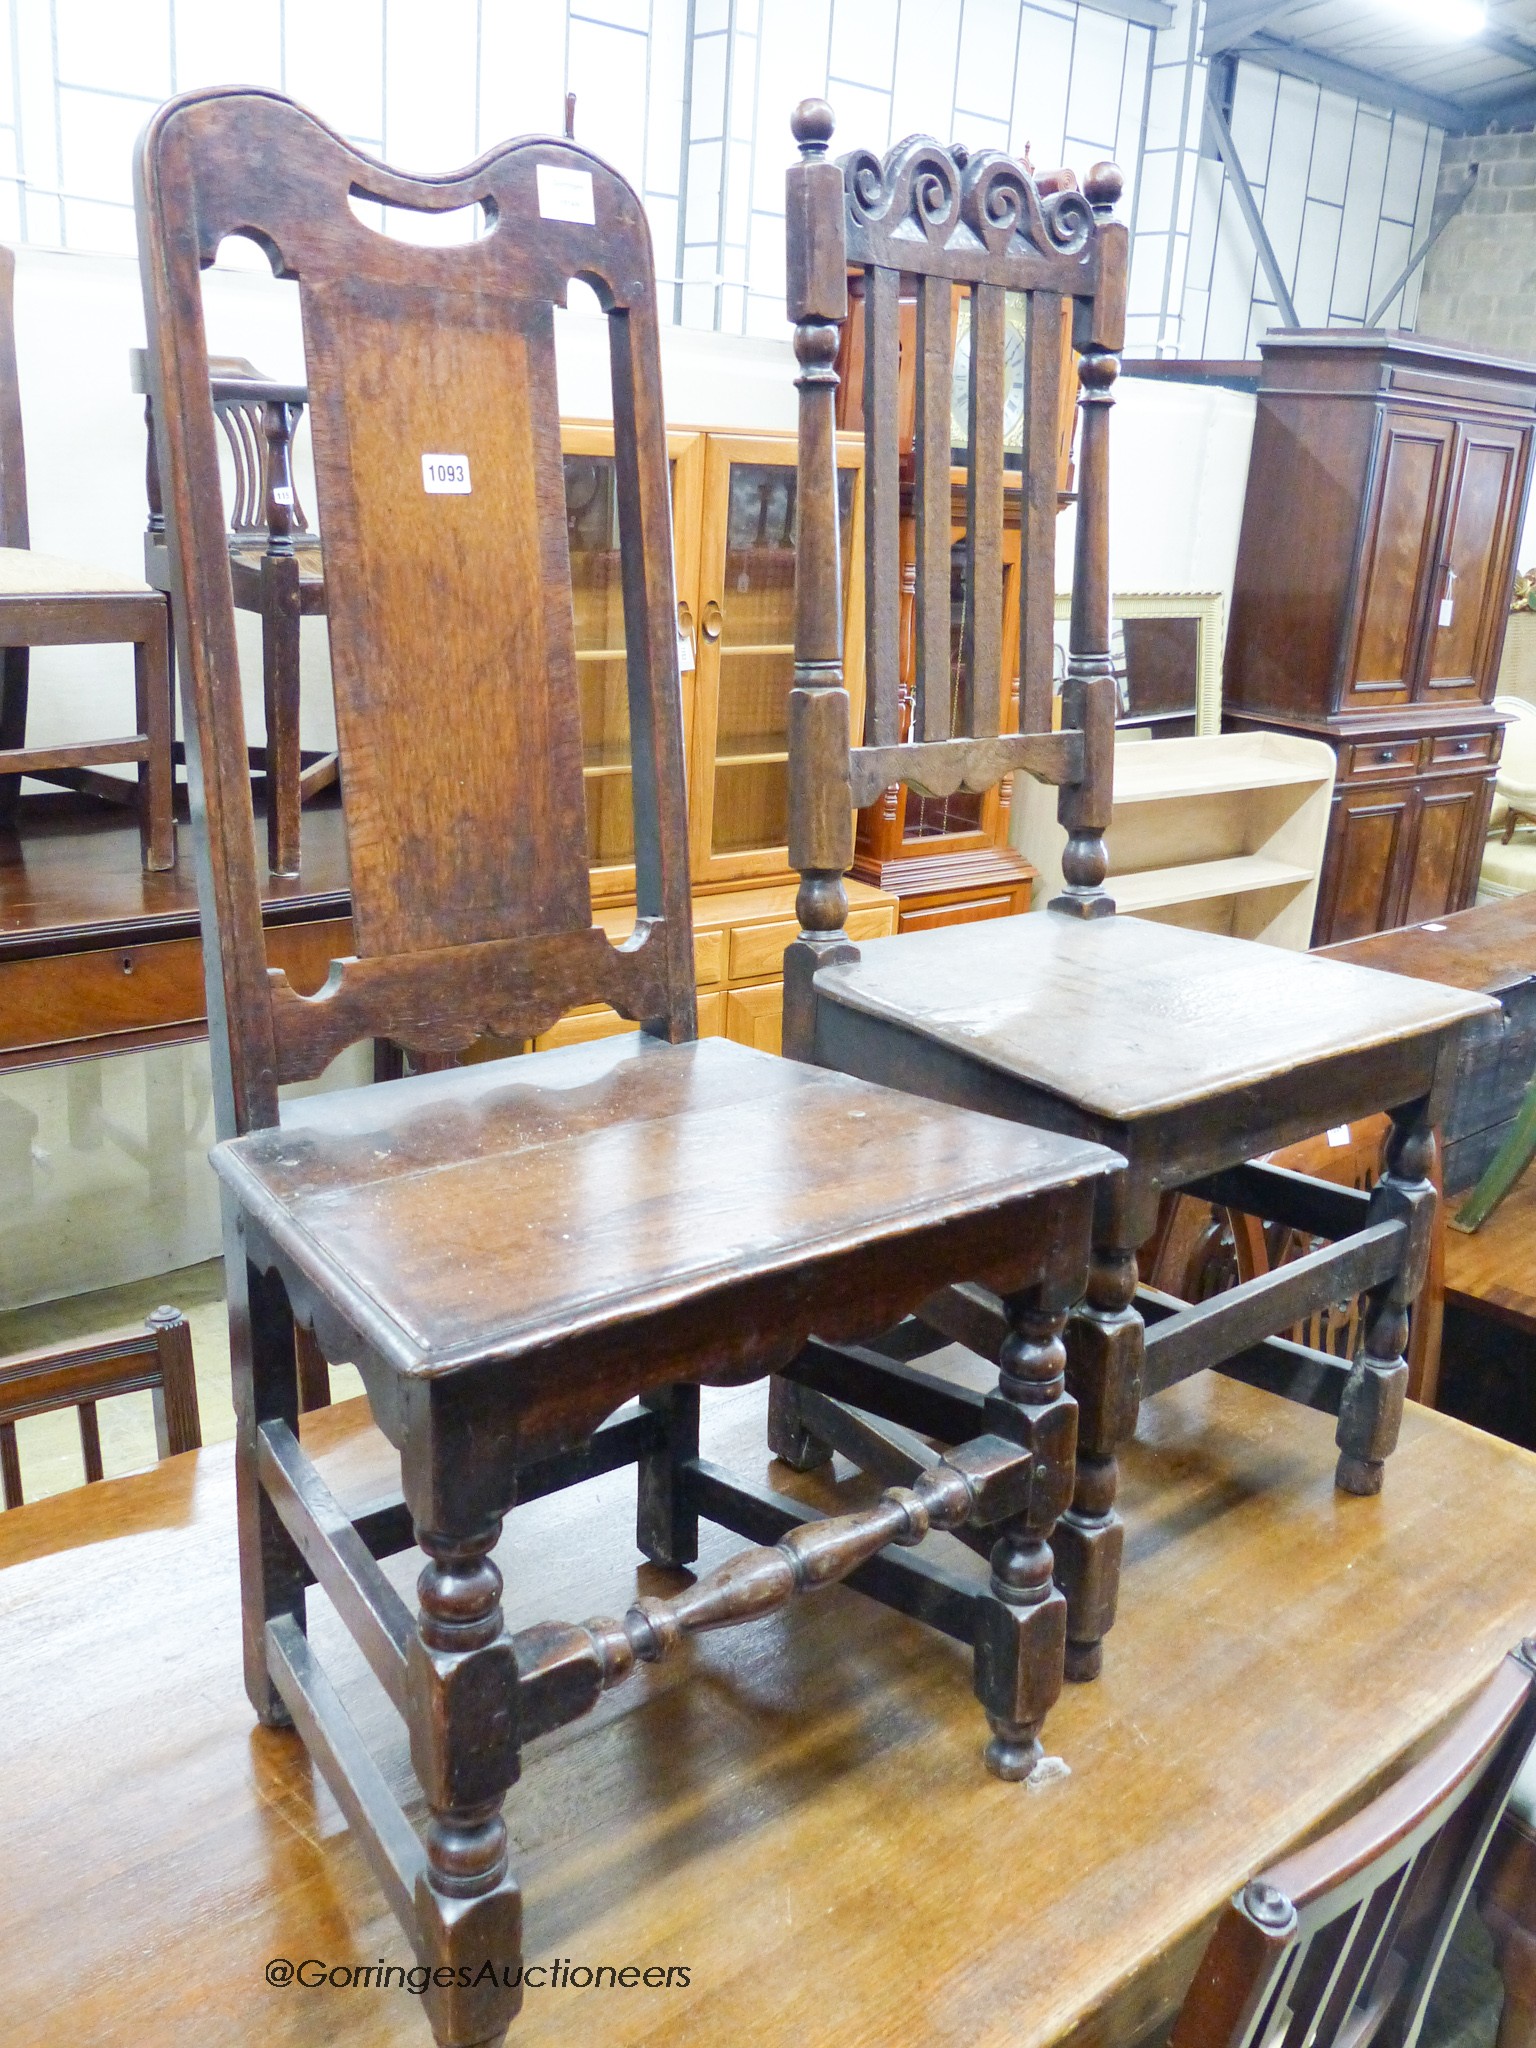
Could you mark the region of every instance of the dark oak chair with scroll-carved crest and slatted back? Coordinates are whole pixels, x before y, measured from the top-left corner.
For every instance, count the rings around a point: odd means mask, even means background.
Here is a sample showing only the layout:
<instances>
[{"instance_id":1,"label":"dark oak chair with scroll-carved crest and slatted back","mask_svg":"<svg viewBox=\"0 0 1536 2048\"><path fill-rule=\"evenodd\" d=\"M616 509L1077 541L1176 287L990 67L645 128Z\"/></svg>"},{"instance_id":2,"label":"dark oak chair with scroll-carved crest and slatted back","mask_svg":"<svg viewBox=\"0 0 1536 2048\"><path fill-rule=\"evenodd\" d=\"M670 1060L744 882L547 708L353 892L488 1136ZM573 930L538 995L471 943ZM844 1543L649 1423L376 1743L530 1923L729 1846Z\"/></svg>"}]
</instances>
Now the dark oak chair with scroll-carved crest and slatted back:
<instances>
[{"instance_id":1,"label":"dark oak chair with scroll-carved crest and slatted back","mask_svg":"<svg viewBox=\"0 0 1536 2048\"><path fill-rule=\"evenodd\" d=\"M1108 414L1124 334L1120 172L1096 166L1083 190L1040 193L995 150L897 143L881 162L827 160L825 100L793 117L788 313L799 391L799 604L791 692L791 864L801 870L799 938L784 956L784 1051L930 1100L1092 1137L1128 1161L1100 1184L1085 1303L1067 1327L1077 1399L1077 1481L1055 1538L1067 1595L1067 1675L1100 1669L1114 1618L1122 1530L1116 1446L1143 1393L1206 1366L1337 1413L1337 1481L1374 1493L1397 1440L1407 1309L1430 1243L1432 1122L1464 1018L1489 1008L1397 975L1346 969L1249 940L1112 915L1104 831L1114 774L1116 682L1108 598ZM848 264L864 270L864 592L866 727L850 743L840 666L834 397ZM897 303L918 289L915 465L897 449ZM952 672L950 625L950 291L971 289L967 588ZM1020 729L997 733L1001 700L1001 504L1006 295L1030 295L1026 332ZM1061 299L1073 301L1081 385L1077 555L1061 729L1051 729L1057 391ZM897 625L903 492L915 516L913 743L899 741ZM850 801L889 782L924 795L983 791L1024 770L1059 786L1065 891L1049 911L948 926L854 946L844 934L852 864ZM1391 1110L1386 1169L1372 1194L1331 1188L1255 1153L1329 1124ZM1188 1188L1335 1239L1311 1257L1198 1307L1137 1298L1137 1247L1163 1192ZM1370 1292L1354 1364L1278 1331L1335 1298ZM1143 1331L1143 1315L1153 1321ZM1004 1325L985 1290L924 1309L938 1343L997 1358ZM942 1333L942 1335L940 1335ZM924 1436L967 1436L975 1401L944 1397L913 1358L922 1331L860 1360L809 1352L774 1384L770 1444L809 1466L840 1448L901 1470L838 1401ZM932 1348L932 1346L930 1346ZM819 1397L815 1417L807 1397ZM922 1415L922 1419L920 1419ZM817 1419L819 1417L819 1419Z\"/></svg>"}]
</instances>

